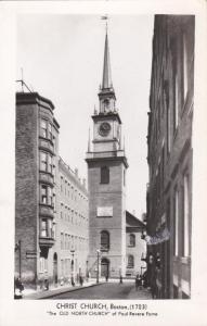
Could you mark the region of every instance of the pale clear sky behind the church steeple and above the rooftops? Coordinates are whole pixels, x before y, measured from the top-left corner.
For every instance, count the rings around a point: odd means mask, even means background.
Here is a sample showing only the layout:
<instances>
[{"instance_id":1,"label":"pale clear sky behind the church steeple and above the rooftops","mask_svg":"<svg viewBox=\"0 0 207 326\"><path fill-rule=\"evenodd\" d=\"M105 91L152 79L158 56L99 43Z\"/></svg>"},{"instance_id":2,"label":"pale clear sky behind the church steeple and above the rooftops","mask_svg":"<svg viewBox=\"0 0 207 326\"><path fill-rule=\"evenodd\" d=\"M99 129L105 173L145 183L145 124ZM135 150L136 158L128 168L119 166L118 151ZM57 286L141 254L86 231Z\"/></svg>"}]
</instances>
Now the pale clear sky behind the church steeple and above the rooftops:
<instances>
[{"instance_id":1,"label":"pale clear sky behind the church steeple and above the rooftops","mask_svg":"<svg viewBox=\"0 0 207 326\"><path fill-rule=\"evenodd\" d=\"M105 21L100 15L26 14L16 22L16 79L50 99L60 123L60 155L81 178L91 115L99 108ZM116 106L122 121L127 171L127 210L145 212L147 112L153 15L112 15L108 42Z\"/></svg>"}]
</instances>

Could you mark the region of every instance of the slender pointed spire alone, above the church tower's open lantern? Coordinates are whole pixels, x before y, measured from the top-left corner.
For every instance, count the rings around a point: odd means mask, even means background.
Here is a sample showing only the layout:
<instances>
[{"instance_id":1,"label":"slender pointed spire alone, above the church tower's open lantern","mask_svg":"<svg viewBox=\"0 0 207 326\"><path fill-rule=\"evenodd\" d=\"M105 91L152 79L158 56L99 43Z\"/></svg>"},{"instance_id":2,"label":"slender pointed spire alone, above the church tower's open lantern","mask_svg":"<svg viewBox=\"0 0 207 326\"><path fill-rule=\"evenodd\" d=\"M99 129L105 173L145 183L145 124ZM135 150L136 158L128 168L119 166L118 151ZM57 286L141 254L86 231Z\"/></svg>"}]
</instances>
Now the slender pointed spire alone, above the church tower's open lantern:
<instances>
[{"instance_id":1,"label":"slender pointed spire alone, above the church tower's open lantern","mask_svg":"<svg viewBox=\"0 0 207 326\"><path fill-rule=\"evenodd\" d=\"M112 87L112 72L111 72L111 62L109 62L108 37L107 37L107 30L106 30L102 89L107 89L107 88L111 88L111 87Z\"/></svg>"}]
</instances>

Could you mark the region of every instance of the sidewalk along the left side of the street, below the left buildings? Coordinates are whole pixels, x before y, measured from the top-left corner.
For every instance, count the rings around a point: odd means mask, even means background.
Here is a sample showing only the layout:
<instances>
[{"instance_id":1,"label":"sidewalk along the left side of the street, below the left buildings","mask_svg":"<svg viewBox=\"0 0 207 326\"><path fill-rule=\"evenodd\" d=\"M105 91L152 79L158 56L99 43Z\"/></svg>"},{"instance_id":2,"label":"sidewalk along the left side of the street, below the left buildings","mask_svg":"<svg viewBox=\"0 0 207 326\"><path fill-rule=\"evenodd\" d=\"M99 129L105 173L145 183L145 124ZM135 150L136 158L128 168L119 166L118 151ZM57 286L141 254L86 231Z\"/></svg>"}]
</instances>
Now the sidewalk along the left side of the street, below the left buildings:
<instances>
[{"instance_id":1,"label":"sidewalk along the left side of the street, below the left buildings","mask_svg":"<svg viewBox=\"0 0 207 326\"><path fill-rule=\"evenodd\" d=\"M96 284L95 279L89 280L89 281L85 281L82 286L75 286L73 287L72 285L63 285L63 286L51 286L49 290L30 290L30 289L25 289L24 293L23 293L23 299L50 299L51 297L55 296L55 294L61 294L64 292L73 292L73 291L77 291L79 289L82 288L87 288L87 287L93 287L96 285L103 284L102 280L100 280L99 284Z\"/></svg>"}]
</instances>

